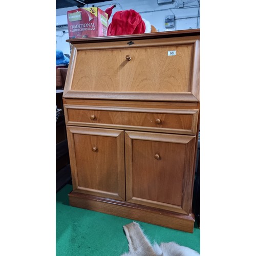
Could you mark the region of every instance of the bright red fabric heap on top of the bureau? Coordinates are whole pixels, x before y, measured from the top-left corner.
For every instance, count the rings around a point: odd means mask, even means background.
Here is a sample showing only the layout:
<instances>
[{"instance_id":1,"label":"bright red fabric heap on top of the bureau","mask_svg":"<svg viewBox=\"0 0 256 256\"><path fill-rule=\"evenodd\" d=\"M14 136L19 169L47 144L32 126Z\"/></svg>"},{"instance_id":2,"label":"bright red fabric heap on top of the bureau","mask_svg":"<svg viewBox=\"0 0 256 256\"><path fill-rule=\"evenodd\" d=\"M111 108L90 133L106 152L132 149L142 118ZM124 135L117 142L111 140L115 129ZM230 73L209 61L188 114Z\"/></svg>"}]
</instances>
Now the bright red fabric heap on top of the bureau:
<instances>
[{"instance_id":1,"label":"bright red fabric heap on top of the bureau","mask_svg":"<svg viewBox=\"0 0 256 256\"><path fill-rule=\"evenodd\" d=\"M143 34L146 25L141 15L134 10L118 11L113 15L106 35Z\"/></svg>"}]
</instances>

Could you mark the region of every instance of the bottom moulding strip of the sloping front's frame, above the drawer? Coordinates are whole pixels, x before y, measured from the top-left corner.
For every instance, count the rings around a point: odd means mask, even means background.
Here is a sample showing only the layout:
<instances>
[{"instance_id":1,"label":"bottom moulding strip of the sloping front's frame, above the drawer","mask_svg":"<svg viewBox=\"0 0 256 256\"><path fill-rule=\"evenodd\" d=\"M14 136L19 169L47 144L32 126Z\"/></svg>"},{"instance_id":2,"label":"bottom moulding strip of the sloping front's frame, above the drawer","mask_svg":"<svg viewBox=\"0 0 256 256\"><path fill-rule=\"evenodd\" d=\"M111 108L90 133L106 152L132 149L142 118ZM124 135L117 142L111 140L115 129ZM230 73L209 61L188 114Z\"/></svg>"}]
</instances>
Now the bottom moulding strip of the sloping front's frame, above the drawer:
<instances>
[{"instance_id":1,"label":"bottom moulding strip of the sloping front's frame, above the drawer","mask_svg":"<svg viewBox=\"0 0 256 256\"><path fill-rule=\"evenodd\" d=\"M67 83L67 80L66 80ZM64 92L65 93L65 92ZM190 92L143 93L143 92L88 92L66 91L63 98L77 99L112 99L112 100L149 100L149 101L181 101L199 102L199 99Z\"/></svg>"}]
</instances>

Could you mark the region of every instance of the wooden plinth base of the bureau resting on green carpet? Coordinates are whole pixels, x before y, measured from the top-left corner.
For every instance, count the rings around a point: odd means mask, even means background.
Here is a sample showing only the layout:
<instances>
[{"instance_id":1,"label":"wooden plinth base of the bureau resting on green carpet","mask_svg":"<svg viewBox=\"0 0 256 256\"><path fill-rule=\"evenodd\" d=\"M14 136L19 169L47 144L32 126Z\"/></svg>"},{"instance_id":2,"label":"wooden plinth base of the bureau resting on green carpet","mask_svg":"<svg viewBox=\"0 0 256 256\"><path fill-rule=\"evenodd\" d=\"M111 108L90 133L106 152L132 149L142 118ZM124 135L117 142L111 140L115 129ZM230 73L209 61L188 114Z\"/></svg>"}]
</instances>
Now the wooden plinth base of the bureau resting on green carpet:
<instances>
[{"instance_id":1,"label":"wooden plinth base of the bureau resting on green carpet","mask_svg":"<svg viewBox=\"0 0 256 256\"><path fill-rule=\"evenodd\" d=\"M195 219L191 215L176 214L164 209L90 196L74 191L69 194L69 202L74 207L99 211L185 232L193 233L194 231Z\"/></svg>"}]
</instances>

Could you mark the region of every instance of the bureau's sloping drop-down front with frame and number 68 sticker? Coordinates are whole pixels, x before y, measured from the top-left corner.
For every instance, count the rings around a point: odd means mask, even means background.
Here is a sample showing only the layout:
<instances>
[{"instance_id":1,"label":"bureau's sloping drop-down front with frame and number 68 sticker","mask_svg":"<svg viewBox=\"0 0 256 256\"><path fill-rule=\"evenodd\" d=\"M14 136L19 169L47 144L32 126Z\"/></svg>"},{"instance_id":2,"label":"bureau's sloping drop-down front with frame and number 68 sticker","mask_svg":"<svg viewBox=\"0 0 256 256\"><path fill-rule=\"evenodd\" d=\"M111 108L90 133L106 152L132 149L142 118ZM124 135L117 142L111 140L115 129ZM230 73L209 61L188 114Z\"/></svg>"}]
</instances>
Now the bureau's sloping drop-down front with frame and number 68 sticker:
<instances>
[{"instance_id":1,"label":"bureau's sloping drop-down front with frame and number 68 sticker","mask_svg":"<svg viewBox=\"0 0 256 256\"><path fill-rule=\"evenodd\" d=\"M73 45L65 97L199 102L199 45L200 37Z\"/></svg>"}]
</instances>

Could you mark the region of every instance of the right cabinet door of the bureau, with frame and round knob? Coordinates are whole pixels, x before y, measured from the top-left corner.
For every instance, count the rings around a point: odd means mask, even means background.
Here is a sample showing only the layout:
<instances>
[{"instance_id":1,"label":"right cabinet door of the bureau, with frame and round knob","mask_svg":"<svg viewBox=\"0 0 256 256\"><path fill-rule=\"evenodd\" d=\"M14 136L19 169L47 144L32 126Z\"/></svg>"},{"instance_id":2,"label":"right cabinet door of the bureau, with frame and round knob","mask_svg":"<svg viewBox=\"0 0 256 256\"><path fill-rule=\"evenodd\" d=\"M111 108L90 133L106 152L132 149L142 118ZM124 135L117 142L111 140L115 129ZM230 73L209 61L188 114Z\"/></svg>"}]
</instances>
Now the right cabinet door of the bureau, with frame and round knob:
<instances>
[{"instance_id":1,"label":"right cabinet door of the bureau, with frame and round knob","mask_svg":"<svg viewBox=\"0 0 256 256\"><path fill-rule=\"evenodd\" d=\"M125 132L126 201L191 213L196 136Z\"/></svg>"}]
</instances>

